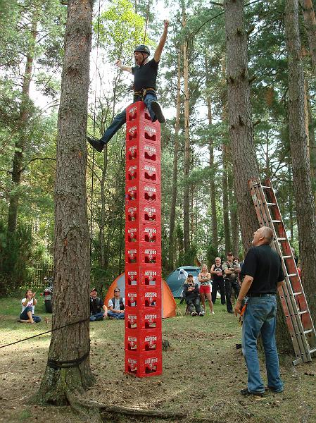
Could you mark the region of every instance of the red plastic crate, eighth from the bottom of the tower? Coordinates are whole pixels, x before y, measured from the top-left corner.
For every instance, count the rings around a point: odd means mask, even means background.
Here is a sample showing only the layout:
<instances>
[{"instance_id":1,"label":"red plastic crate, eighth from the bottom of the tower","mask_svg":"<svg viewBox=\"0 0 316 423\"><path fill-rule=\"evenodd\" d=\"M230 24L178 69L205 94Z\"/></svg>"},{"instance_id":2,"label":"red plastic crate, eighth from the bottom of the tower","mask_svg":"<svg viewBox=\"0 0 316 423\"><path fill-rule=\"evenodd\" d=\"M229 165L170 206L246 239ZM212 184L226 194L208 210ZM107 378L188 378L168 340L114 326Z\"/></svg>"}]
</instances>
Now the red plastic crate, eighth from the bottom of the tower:
<instances>
[{"instance_id":1,"label":"red plastic crate, eighth from the bottom of the tower","mask_svg":"<svg viewBox=\"0 0 316 423\"><path fill-rule=\"evenodd\" d=\"M125 203L125 221L160 225L160 204L127 201Z\"/></svg>"}]
</instances>

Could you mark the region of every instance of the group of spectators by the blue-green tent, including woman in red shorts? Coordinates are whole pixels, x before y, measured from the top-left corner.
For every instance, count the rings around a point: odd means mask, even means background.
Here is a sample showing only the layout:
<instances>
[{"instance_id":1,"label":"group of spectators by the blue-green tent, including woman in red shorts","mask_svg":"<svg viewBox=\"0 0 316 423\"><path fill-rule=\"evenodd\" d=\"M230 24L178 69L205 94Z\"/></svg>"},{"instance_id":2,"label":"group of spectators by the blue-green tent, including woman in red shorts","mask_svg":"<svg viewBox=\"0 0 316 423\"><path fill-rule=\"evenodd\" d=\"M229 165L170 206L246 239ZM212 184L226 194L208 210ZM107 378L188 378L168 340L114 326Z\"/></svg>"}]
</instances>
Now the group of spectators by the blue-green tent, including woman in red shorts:
<instances>
[{"instance_id":1,"label":"group of spectators by the blue-green tent, including woman in red shorts","mask_svg":"<svg viewBox=\"0 0 316 423\"><path fill-rule=\"evenodd\" d=\"M217 297L217 290L220 291L220 300L226 304L227 312L234 313L232 307L232 290L236 298L239 295L241 263L238 257L234 257L232 252L227 254L227 260L222 263L220 257L215 258L208 271L208 266L203 264L201 272L198 274L198 282L194 281L194 276L189 274L183 286L183 297L188 305L191 316L203 316L206 312L206 298L210 307L210 314L214 314L213 304ZM201 307L202 303L202 307Z\"/></svg>"}]
</instances>

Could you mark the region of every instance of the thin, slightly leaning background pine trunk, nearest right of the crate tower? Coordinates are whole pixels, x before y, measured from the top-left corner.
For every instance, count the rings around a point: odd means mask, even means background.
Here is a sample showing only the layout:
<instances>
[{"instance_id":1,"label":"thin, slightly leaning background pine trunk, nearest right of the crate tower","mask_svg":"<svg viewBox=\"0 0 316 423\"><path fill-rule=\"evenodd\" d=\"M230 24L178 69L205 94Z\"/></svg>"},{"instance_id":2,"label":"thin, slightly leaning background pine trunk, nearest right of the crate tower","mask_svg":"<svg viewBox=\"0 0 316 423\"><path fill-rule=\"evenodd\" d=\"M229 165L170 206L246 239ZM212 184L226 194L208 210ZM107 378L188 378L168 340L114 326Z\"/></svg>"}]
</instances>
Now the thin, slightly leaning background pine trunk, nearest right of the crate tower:
<instances>
[{"instance_id":1,"label":"thin, slightly leaning background pine trunk, nearest right of the crate tower","mask_svg":"<svg viewBox=\"0 0 316 423\"><path fill-rule=\"evenodd\" d=\"M172 270L175 264L175 207L177 204L177 171L179 152L179 127L180 127L180 90L181 90L181 49L179 46L177 56L177 103L175 116L175 145L173 147L173 168L172 168L172 188L170 204L170 232L169 232L169 259L168 266Z\"/></svg>"}]
</instances>

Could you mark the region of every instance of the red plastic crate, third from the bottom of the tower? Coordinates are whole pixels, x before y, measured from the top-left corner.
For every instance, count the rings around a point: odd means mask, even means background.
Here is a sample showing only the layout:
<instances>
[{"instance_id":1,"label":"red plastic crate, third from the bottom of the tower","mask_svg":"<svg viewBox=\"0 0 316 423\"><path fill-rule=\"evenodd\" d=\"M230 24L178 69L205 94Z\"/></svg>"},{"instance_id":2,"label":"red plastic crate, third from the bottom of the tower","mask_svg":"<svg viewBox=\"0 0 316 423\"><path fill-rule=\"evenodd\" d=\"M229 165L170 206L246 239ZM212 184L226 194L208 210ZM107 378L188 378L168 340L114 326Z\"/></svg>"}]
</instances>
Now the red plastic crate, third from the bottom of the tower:
<instances>
[{"instance_id":1,"label":"red plastic crate, third from the bottom of the tower","mask_svg":"<svg viewBox=\"0 0 316 423\"><path fill-rule=\"evenodd\" d=\"M125 329L161 329L162 311L158 307L125 307Z\"/></svg>"}]
</instances>

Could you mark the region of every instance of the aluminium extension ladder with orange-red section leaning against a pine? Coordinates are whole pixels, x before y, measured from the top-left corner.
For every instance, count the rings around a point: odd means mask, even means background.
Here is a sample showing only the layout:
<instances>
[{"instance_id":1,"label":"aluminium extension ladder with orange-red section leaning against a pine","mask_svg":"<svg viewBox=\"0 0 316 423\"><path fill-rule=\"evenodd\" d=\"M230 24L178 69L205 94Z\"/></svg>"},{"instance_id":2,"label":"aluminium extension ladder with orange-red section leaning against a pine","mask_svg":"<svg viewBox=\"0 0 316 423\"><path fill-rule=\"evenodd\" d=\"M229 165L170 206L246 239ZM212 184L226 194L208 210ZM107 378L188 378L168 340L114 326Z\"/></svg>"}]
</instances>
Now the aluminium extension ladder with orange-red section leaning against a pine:
<instances>
[{"instance_id":1,"label":"aluminium extension ladder with orange-red section leaning against a pine","mask_svg":"<svg viewBox=\"0 0 316 423\"><path fill-rule=\"evenodd\" d=\"M293 364L310 362L316 353L315 327L272 183L267 179L265 185L262 185L258 178L253 178L248 180L248 186L259 224L272 229L274 235L272 247L282 258L285 283L279 288L279 296L296 355Z\"/></svg>"}]
</instances>

